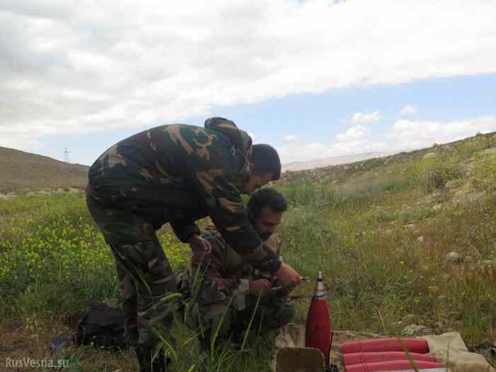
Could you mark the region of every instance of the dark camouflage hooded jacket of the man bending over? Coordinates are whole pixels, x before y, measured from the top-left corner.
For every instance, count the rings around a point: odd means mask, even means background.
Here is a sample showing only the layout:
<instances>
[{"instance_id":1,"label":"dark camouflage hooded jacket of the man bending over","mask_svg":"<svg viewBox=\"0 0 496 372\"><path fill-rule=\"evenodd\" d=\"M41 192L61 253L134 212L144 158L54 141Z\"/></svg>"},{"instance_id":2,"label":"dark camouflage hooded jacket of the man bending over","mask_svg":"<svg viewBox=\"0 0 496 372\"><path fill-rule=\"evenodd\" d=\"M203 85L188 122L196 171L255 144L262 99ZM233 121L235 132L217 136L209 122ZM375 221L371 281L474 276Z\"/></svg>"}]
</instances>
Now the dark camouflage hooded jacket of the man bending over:
<instances>
[{"instance_id":1,"label":"dark camouflage hooded jacket of the man bending over","mask_svg":"<svg viewBox=\"0 0 496 372\"><path fill-rule=\"evenodd\" d=\"M241 187L252 142L230 120L155 127L105 151L91 166L88 189L100 204L144 216L154 228L171 223L184 243L210 216L221 236L254 267L275 272L272 250L248 221Z\"/></svg>"}]
</instances>

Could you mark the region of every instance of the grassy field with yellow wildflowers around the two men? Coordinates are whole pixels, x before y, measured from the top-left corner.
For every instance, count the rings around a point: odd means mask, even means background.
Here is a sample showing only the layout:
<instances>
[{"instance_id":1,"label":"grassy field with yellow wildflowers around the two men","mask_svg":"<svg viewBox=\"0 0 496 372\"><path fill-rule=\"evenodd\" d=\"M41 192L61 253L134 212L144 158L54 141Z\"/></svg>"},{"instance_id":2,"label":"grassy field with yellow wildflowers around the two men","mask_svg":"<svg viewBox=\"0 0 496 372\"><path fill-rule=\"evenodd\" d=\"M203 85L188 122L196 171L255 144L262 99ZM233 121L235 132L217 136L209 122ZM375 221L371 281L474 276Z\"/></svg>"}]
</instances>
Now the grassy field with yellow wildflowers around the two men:
<instances>
[{"instance_id":1,"label":"grassy field with yellow wildflowers around the two men","mask_svg":"<svg viewBox=\"0 0 496 372\"><path fill-rule=\"evenodd\" d=\"M457 330L468 345L496 339L494 146L494 136L478 136L387 164L360 162L338 182L275 186L291 203L279 229L284 261L305 277L323 272L335 329L400 335L413 323L434 334ZM0 203L0 358L54 359L50 339L70 332L89 303L117 306L115 264L82 194ZM180 272L188 246L169 228L159 238ZM296 307L295 321L304 322L308 301ZM270 371L273 335L209 356L191 331L174 332L171 371ZM84 347L56 357L69 360L69 371L136 368L131 351Z\"/></svg>"}]
</instances>

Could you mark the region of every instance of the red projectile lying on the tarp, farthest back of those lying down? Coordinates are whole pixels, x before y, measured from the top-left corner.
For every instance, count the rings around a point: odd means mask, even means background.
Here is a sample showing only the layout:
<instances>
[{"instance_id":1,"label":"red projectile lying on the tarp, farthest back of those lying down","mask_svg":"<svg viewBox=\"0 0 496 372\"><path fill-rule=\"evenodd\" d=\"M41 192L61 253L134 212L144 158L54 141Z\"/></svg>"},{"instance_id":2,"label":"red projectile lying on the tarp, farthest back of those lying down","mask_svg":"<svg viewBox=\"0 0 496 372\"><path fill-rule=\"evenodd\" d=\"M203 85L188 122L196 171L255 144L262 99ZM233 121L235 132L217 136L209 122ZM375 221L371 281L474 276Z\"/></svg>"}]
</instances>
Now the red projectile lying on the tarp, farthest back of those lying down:
<instances>
[{"instance_id":1,"label":"red projectile lying on the tarp, farthest back of those lying down","mask_svg":"<svg viewBox=\"0 0 496 372\"><path fill-rule=\"evenodd\" d=\"M374 353L383 351L404 351L425 354L429 352L429 344L425 339L362 339L360 341L345 342L342 344L343 354L347 353Z\"/></svg>"}]
</instances>

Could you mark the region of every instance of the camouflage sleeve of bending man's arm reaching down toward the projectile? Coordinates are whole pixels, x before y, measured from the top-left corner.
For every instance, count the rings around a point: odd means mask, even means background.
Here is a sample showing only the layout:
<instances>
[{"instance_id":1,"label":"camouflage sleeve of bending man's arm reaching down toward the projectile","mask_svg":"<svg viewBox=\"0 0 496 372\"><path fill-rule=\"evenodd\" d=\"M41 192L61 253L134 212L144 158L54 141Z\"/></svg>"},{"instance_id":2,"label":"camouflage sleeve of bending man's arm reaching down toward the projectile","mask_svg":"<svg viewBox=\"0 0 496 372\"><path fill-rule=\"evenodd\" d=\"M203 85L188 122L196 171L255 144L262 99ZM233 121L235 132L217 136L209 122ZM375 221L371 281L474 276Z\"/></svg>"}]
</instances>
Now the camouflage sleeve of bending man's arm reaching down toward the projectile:
<instances>
[{"instance_id":1,"label":"camouflage sleeve of bending man's arm reaching down toward the projectile","mask_svg":"<svg viewBox=\"0 0 496 372\"><path fill-rule=\"evenodd\" d=\"M225 170L208 170L197 178L207 194L209 216L224 240L256 269L277 272L281 262L248 221L239 178Z\"/></svg>"}]
</instances>

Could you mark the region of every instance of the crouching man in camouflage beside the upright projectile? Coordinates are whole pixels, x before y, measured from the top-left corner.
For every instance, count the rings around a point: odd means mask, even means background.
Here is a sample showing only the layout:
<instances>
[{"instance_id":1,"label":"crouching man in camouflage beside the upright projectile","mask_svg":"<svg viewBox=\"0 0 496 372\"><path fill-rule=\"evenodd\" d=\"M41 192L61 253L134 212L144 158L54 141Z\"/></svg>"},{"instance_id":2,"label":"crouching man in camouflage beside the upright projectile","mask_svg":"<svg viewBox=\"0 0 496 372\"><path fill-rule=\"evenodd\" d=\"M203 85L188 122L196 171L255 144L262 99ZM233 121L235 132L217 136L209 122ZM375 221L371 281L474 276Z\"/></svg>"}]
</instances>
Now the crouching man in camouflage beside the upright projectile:
<instances>
[{"instance_id":1,"label":"crouching man in camouflage beside the upright projectile","mask_svg":"<svg viewBox=\"0 0 496 372\"><path fill-rule=\"evenodd\" d=\"M274 233L286 209L286 199L271 188L255 192L247 206L248 219L258 236L281 261L281 242ZM287 302L287 293L294 286L281 286L273 274L255 269L226 243L215 226L204 228L202 238L212 246L209 260L200 261L193 255L183 273L181 291L189 298L186 322L195 327L205 349L217 327L218 339L241 341L254 312L251 329L262 334L292 320L294 306Z\"/></svg>"}]
</instances>

